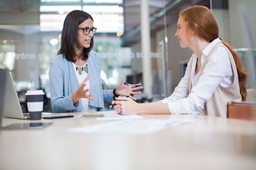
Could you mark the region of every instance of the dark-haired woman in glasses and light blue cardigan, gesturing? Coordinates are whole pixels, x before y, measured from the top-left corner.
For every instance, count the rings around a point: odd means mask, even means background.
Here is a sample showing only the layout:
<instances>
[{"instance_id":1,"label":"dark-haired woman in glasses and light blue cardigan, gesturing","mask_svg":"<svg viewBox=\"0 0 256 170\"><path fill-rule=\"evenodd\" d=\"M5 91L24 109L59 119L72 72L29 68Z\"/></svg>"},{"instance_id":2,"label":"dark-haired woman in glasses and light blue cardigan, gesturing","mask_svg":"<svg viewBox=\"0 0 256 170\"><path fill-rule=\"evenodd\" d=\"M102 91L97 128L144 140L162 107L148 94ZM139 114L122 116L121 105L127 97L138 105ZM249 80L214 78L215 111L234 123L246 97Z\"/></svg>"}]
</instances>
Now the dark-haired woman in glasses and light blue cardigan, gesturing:
<instances>
[{"instance_id":1,"label":"dark-haired woman in glasses and light blue cardigan, gesturing","mask_svg":"<svg viewBox=\"0 0 256 170\"><path fill-rule=\"evenodd\" d=\"M49 70L53 112L102 111L104 102L111 102L119 95L141 93L134 91L143 87L124 85L123 76L119 87L102 90L100 56L92 51L95 32L90 14L82 10L67 14L61 48Z\"/></svg>"}]
</instances>

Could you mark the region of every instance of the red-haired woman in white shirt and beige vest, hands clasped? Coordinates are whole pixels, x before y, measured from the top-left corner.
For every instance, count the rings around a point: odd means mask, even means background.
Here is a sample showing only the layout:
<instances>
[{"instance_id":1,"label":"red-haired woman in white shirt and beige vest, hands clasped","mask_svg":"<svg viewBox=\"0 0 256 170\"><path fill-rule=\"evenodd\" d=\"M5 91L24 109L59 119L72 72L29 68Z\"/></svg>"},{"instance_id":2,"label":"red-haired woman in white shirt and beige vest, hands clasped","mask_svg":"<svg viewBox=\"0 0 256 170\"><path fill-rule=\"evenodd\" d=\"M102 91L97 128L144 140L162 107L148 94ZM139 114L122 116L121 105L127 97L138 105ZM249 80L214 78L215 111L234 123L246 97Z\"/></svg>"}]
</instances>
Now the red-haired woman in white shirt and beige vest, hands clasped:
<instances>
[{"instance_id":1,"label":"red-haired woman in white shirt and beige vest, hands clasped","mask_svg":"<svg viewBox=\"0 0 256 170\"><path fill-rule=\"evenodd\" d=\"M230 101L245 101L247 73L241 59L219 38L216 19L202 6L179 14L175 36L194 53L173 94L162 101L138 104L126 97L112 101L120 114L204 114L227 117Z\"/></svg>"}]
</instances>

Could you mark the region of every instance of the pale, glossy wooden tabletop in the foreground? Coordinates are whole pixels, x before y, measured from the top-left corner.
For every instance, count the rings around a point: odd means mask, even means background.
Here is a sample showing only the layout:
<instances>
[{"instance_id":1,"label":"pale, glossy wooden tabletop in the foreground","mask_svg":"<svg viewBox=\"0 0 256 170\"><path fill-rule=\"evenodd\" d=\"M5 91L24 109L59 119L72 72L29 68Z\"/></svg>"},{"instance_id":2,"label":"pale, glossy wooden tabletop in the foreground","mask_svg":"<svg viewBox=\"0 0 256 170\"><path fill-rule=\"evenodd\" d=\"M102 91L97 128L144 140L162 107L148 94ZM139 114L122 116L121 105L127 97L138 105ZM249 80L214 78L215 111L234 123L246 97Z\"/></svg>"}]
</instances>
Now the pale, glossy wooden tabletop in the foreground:
<instances>
[{"instance_id":1,"label":"pale, glossy wooden tabletop in the foreground","mask_svg":"<svg viewBox=\"0 0 256 170\"><path fill-rule=\"evenodd\" d=\"M256 170L255 121L191 114L141 116L193 122L147 135L98 135L67 129L108 121L2 118L2 126L53 124L42 129L2 129L0 170Z\"/></svg>"}]
</instances>

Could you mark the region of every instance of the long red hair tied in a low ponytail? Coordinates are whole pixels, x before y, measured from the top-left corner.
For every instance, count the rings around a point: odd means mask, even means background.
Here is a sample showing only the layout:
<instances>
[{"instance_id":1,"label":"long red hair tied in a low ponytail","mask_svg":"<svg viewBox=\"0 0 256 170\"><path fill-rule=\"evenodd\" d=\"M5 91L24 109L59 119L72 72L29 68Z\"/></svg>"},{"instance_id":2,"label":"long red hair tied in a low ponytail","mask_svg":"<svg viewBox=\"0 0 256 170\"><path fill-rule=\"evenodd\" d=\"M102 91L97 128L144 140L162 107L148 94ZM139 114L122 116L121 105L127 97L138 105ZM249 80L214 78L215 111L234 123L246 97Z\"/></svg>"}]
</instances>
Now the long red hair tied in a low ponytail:
<instances>
[{"instance_id":1,"label":"long red hair tied in a low ponytail","mask_svg":"<svg viewBox=\"0 0 256 170\"><path fill-rule=\"evenodd\" d=\"M183 19L183 21L185 21L187 25L187 38L189 30L193 30L197 36L208 42L212 42L214 39L219 37L217 21L207 7L199 5L186 7L186 9L179 13L179 16ZM228 45L228 43L224 41L221 42L229 49L235 60L240 94L242 96L242 101L245 101L247 96L246 85L248 78L243 63L238 54L234 51L234 49L232 49L230 45Z\"/></svg>"}]
</instances>

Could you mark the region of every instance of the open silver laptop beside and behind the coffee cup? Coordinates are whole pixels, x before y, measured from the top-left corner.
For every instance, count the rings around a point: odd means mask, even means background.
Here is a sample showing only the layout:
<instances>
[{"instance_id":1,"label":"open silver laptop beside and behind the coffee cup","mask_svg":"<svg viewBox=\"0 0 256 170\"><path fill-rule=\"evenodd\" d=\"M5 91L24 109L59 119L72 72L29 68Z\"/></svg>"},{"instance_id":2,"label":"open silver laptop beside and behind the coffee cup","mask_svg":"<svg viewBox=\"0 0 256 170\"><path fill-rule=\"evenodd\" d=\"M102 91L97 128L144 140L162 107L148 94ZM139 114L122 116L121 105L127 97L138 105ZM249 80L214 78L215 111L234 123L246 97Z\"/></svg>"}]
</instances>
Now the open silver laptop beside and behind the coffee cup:
<instances>
[{"instance_id":1,"label":"open silver laptop beside and behind the coffee cup","mask_svg":"<svg viewBox=\"0 0 256 170\"><path fill-rule=\"evenodd\" d=\"M3 70L1 70L3 71ZM18 94L14 87L11 72L6 72L6 83L4 90L4 104L2 116L6 118L29 119L29 113L23 113ZM46 113L42 113L46 114Z\"/></svg>"}]
</instances>

